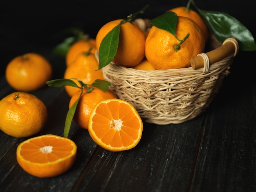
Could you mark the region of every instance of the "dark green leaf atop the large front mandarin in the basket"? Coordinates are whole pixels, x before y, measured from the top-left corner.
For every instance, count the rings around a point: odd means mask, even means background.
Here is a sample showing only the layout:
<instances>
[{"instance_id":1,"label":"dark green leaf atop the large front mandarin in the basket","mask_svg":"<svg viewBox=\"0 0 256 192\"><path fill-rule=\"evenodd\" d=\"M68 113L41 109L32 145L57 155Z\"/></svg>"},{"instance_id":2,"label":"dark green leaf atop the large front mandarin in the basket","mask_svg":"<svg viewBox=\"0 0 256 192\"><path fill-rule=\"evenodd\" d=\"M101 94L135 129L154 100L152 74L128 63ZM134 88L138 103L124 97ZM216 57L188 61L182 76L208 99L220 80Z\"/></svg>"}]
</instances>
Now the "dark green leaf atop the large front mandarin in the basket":
<instances>
[{"instance_id":1,"label":"dark green leaf atop the large front mandarin in the basket","mask_svg":"<svg viewBox=\"0 0 256 192\"><path fill-rule=\"evenodd\" d=\"M172 11L167 11L162 15L150 20L150 24L154 25L159 29L164 29L170 33L172 33L176 37L176 25L177 25L177 14ZM176 37L177 38L177 37Z\"/></svg>"}]
</instances>

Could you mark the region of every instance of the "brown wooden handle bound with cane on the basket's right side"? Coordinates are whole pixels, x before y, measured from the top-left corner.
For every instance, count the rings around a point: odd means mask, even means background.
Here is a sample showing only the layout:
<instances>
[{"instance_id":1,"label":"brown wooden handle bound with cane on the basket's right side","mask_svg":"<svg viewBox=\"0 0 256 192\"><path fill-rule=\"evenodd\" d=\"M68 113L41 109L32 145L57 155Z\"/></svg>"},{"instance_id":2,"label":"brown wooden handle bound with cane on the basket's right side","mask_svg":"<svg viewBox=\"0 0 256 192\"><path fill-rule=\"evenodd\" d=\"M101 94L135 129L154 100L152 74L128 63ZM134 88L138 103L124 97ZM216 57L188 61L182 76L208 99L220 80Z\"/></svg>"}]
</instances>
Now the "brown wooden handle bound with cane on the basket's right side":
<instances>
[{"instance_id":1,"label":"brown wooden handle bound with cane on the basket's right side","mask_svg":"<svg viewBox=\"0 0 256 192\"><path fill-rule=\"evenodd\" d=\"M236 38L227 38L220 47L213 49L204 54L204 56L208 56L209 65L216 63L230 54L234 53L236 56L238 52L238 42ZM204 67L204 57L202 55L197 55L190 60L191 67L193 69L199 69Z\"/></svg>"}]
</instances>

